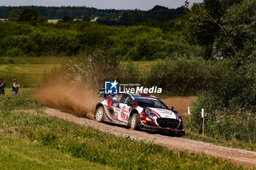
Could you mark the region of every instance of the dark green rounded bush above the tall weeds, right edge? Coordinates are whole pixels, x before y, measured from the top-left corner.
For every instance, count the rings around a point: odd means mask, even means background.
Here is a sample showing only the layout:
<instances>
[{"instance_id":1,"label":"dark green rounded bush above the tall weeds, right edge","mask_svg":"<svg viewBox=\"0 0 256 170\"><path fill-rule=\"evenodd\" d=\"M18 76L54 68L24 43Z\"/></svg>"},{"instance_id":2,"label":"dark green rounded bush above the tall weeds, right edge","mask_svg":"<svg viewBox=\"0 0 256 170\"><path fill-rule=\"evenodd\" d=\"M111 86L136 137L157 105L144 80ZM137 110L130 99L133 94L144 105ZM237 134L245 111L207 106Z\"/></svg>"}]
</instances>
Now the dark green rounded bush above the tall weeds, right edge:
<instances>
[{"instance_id":1,"label":"dark green rounded bush above the tall weeds, right edge","mask_svg":"<svg viewBox=\"0 0 256 170\"><path fill-rule=\"evenodd\" d=\"M196 101L196 106L203 108L211 104L208 112L214 108L225 109L241 107L256 112L256 72L255 61L236 66L235 60L217 62L217 76L208 84L207 93ZM212 96L208 98L208 96ZM200 99L200 98L203 98ZM218 101L218 102L216 102ZM199 108L197 108L199 109Z\"/></svg>"}]
</instances>

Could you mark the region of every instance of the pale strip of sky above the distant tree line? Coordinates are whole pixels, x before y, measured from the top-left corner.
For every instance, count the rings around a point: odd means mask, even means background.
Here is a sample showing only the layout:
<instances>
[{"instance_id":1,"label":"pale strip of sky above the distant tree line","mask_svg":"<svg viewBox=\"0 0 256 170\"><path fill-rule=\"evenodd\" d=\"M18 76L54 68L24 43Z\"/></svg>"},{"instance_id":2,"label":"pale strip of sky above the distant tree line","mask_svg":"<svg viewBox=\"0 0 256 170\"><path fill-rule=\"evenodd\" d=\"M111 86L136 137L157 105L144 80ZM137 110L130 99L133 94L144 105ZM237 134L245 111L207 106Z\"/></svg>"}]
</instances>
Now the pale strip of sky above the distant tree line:
<instances>
[{"instance_id":1,"label":"pale strip of sky above the distant tree line","mask_svg":"<svg viewBox=\"0 0 256 170\"><path fill-rule=\"evenodd\" d=\"M190 4L203 0L189 0ZM86 6L98 9L152 9L156 5L181 7L185 0L0 0L0 6Z\"/></svg>"}]
</instances>

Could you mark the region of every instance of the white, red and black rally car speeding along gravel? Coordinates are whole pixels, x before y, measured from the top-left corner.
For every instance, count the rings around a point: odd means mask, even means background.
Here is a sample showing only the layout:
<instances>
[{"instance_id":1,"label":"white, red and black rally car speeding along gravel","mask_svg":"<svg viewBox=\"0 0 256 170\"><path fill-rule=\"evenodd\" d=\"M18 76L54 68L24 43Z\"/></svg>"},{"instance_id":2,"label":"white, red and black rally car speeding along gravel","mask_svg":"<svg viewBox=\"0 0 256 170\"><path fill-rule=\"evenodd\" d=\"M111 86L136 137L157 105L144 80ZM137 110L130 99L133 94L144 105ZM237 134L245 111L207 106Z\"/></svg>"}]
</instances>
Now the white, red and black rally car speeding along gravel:
<instances>
[{"instance_id":1,"label":"white, red and black rally car speeding along gravel","mask_svg":"<svg viewBox=\"0 0 256 170\"><path fill-rule=\"evenodd\" d=\"M97 122L127 125L133 130L167 131L185 134L181 114L147 93L116 93L104 98L95 109Z\"/></svg>"}]
</instances>

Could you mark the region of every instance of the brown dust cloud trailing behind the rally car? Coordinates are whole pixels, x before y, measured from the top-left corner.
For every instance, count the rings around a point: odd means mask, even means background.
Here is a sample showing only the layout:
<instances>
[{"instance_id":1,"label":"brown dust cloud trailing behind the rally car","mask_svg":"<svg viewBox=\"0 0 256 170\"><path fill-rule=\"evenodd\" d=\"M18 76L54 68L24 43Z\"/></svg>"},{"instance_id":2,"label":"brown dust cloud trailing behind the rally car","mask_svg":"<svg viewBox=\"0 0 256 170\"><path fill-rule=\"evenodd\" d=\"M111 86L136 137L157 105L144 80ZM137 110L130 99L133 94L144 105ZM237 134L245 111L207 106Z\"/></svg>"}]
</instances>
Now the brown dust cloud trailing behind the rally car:
<instances>
[{"instance_id":1,"label":"brown dust cloud trailing behind the rally car","mask_svg":"<svg viewBox=\"0 0 256 170\"><path fill-rule=\"evenodd\" d=\"M34 93L34 98L48 107L91 119L94 118L94 109L100 101L97 91L89 86L81 88L61 80L42 86Z\"/></svg>"}]
</instances>

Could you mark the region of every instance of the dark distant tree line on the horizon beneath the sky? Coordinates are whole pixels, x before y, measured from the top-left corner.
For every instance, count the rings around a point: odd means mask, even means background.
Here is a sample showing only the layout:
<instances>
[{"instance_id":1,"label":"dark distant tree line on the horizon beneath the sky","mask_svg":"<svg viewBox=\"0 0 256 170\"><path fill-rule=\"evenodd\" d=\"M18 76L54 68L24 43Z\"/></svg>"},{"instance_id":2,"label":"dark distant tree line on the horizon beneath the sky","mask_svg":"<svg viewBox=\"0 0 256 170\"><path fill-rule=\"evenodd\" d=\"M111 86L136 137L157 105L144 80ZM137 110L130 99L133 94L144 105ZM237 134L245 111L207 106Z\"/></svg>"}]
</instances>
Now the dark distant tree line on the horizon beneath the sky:
<instances>
[{"instance_id":1,"label":"dark distant tree line on the horizon beneath the sky","mask_svg":"<svg viewBox=\"0 0 256 170\"><path fill-rule=\"evenodd\" d=\"M151 10L116 10L116 9L96 9L92 7L0 7L0 18L10 18L10 12L19 15L23 9L36 9L39 14L47 19L71 19L91 20L98 17L99 23L105 25L132 26L149 19L163 21L180 18L184 15L185 7L168 9L167 7L156 6Z\"/></svg>"}]
</instances>

